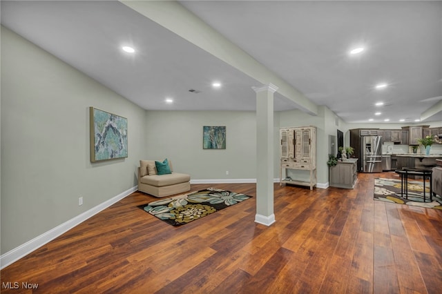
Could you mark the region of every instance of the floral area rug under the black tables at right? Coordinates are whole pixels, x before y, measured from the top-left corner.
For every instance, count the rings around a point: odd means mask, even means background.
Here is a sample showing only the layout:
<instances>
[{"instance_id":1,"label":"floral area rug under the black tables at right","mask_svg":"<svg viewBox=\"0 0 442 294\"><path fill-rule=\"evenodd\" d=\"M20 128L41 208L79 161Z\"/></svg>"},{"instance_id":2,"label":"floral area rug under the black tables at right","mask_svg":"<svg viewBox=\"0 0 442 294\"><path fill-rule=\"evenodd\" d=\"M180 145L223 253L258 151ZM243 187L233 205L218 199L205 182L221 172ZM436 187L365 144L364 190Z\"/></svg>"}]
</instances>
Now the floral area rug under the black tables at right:
<instances>
[{"instance_id":1,"label":"floral area rug under the black tables at right","mask_svg":"<svg viewBox=\"0 0 442 294\"><path fill-rule=\"evenodd\" d=\"M410 179L408 180L408 199L405 199L405 195L401 197L401 180L374 179L374 199L442 210L442 199L439 196L433 196L433 200L430 202L430 183L425 184L426 202L423 202L423 183L410 181Z\"/></svg>"}]
</instances>

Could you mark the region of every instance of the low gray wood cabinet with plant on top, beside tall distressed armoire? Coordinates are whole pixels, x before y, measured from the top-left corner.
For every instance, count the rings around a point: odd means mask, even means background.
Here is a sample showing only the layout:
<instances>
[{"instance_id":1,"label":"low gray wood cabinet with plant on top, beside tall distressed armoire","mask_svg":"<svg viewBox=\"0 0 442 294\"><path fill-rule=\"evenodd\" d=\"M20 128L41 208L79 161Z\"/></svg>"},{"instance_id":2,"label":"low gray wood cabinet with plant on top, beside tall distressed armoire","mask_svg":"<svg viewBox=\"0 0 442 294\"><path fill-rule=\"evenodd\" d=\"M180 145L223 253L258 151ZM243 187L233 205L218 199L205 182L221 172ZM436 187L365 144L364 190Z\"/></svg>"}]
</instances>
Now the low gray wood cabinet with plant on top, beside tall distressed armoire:
<instances>
[{"instance_id":1,"label":"low gray wood cabinet with plant on top, beside tall distressed armoire","mask_svg":"<svg viewBox=\"0 0 442 294\"><path fill-rule=\"evenodd\" d=\"M329 186L352 189L358 180L357 158L338 161L329 167Z\"/></svg>"}]
</instances>

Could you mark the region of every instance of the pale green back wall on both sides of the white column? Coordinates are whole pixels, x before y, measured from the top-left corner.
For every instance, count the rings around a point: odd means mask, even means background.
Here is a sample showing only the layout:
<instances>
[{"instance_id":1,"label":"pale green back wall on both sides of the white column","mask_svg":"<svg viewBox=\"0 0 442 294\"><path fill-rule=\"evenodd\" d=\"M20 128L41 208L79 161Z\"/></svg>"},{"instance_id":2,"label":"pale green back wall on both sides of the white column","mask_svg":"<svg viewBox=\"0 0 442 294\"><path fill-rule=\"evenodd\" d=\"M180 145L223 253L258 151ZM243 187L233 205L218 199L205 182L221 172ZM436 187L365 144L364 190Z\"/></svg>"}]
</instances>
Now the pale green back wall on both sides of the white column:
<instances>
[{"instance_id":1,"label":"pale green back wall on both sides of the white column","mask_svg":"<svg viewBox=\"0 0 442 294\"><path fill-rule=\"evenodd\" d=\"M345 130L343 122L325 106L318 116L300 110L274 114L274 168L279 177L279 128L316 126L318 183L328 182L328 135ZM147 111L146 159L173 161L177 172L189 173L191 179L256 179L256 114L249 111ZM202 149L202 126L227 126L225 150ZM179 146L179 147L177 147ZM176 155L175 155L176 154ZM226 175L229 170L229 175Z\"/></svg>"}]
</instances>

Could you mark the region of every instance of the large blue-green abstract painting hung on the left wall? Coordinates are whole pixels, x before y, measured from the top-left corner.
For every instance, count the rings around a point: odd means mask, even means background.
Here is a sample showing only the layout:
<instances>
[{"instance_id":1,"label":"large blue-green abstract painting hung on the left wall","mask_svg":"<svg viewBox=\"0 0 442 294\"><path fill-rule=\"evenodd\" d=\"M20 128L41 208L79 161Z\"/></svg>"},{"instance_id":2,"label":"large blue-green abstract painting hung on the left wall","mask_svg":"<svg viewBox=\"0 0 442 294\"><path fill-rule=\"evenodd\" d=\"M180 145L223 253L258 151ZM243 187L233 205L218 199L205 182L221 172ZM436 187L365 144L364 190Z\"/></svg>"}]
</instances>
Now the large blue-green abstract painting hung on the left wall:
<instances>
[{"instance_id":1,"label":"large blue-green abstract painting hung on the left wall","mask_svg":"<svg viewBox=\"0 0 442 294\"><path fill-rule=\"evenodd\" d=\"M89 108L90 161L127 157L127 119L97 108Z\"/></svg>"}]
</instances>

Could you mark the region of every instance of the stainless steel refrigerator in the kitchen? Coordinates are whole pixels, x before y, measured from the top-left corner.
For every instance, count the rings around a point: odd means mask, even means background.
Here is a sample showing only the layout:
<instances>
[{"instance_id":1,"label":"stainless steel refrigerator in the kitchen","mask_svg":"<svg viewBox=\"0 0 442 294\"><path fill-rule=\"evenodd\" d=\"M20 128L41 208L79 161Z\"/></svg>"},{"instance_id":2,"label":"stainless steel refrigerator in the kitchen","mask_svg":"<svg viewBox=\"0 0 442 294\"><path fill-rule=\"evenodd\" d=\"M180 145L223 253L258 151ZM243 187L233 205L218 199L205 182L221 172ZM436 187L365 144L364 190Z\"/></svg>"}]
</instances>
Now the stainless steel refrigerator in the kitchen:
<instances>
[{"instance_id":1,"label":"stainless steel refrigerator in the kitchen","mask_svg":"<svg viewBox=\"0 0 442 294\"><path fill-rule=\"evenodd\" d=\"M381 136L361 137L361 171L363 173L382 173Z\"/></svg>"}]
</instances>

